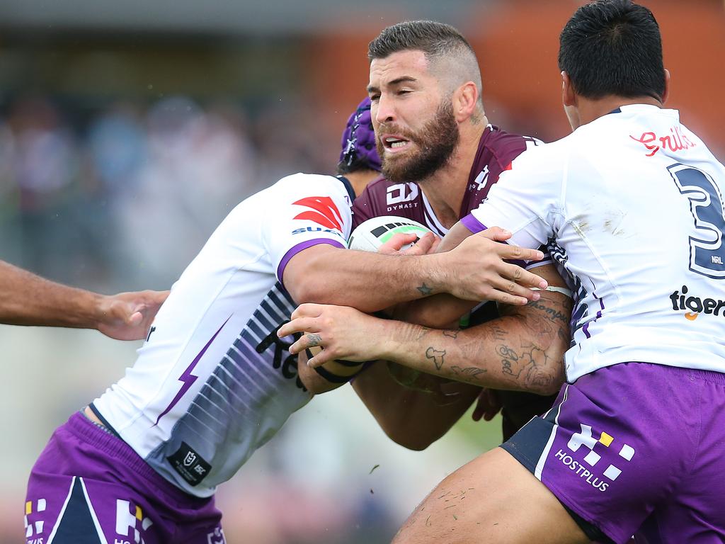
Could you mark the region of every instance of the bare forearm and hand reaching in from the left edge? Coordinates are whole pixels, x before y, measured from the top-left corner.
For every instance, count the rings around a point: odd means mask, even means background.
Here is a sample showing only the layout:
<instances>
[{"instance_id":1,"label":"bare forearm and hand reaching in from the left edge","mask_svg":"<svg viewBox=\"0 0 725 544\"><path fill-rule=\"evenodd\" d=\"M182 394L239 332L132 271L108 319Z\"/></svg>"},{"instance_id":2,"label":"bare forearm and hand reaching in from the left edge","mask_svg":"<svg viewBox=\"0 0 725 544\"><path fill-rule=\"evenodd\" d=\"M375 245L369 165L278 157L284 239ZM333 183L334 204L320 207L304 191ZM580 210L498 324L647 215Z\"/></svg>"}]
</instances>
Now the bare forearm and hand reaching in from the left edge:
<instances>
[{"instance_id":1,"label":"bare forearm and hand reaching in from the left edge","mask_svg":"<svg viewBox=\"0 0 725 544\"><path fill-rule=\"evenodd\" d=\"M112 296L75 289L0 261L0 323L98 329L108 337L146 337L168 292Z\"/></svg>"}]
</instances>

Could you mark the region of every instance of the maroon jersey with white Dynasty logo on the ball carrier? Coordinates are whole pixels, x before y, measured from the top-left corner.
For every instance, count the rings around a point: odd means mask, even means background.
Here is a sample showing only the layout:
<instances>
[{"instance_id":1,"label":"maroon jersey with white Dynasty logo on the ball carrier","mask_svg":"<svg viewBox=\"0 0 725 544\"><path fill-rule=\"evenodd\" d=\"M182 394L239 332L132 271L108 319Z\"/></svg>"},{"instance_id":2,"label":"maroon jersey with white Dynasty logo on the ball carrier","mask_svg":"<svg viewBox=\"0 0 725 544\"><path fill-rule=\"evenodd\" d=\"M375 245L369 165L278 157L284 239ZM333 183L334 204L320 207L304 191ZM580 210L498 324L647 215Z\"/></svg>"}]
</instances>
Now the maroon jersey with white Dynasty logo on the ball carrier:
<instances>
[{"instance_id":1,"label":"maroon jersey with white Dynasty logo on the ball carrier","mask_svg":"<svg viewBox=\"0 0 725 544\"><path fill-rule=\"evenodd\" d=\"M471 172L468 173L468 184L465 186L459 218L479 207L489 194L491 186L498 181L502 171L506 170L519 154L528 147L541 143L529 136L510 134L488 125L481 135L476 158L473 160ZM447 228L444 228L436 218L420 186L410 181L393 184L381 178L369 184L352 206L352 228L355 229L363 221L381 215L399 215L413 219L439 236L444 236L447 232Z\"/></svg>"}]
</instances>

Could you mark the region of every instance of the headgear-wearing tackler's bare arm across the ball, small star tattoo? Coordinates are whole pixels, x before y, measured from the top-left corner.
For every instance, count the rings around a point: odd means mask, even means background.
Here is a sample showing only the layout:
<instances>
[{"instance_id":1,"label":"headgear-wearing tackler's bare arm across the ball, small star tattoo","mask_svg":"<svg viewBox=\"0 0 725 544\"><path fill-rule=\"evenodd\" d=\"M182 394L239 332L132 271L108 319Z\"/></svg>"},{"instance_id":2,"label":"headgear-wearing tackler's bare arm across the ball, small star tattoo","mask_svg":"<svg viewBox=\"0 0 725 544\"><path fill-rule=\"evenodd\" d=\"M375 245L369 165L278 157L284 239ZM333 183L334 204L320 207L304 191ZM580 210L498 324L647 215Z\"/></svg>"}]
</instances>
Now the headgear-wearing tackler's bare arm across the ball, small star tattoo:
<instances>
[{"instance_id":1,"label":"headgear-wearing tackler's bare arm across the ball, small star tattoo","mask_svg":"<svg viewBox=\"0 0 725 544\"><path fill-rule=\"evenodd\" d=\"M348 305L365 312L437 293L524 305L538 298L528 287L546 283L504 260L540 260L543 254L494 242L509 236L489 228L454 250L420 256L341 252L318 244L291 258L283 281L297 302Z\"/></svg>"}]
</instances>

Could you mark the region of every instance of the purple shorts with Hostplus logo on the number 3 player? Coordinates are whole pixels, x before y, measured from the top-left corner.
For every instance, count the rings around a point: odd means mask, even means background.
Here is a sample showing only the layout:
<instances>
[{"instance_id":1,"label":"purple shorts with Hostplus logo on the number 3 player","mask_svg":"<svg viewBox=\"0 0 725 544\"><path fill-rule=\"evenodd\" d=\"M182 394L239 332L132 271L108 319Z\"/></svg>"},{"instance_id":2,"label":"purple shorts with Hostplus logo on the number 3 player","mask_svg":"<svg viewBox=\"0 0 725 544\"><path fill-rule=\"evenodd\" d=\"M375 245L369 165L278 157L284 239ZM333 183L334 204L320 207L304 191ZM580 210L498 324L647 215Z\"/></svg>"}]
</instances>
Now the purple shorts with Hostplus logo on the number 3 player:
<instances>
[{"instance_id":1,"label":"purple shorts with Hostplus logo on the number 3 player","mask_svg":"<svg viewBox=\"0 0 725 544\"><path fill-rule=\"evenodd\" d=\"M501 447L616 543L725 542L725 374L601 368Z\"/></svg>"}]
</instances>

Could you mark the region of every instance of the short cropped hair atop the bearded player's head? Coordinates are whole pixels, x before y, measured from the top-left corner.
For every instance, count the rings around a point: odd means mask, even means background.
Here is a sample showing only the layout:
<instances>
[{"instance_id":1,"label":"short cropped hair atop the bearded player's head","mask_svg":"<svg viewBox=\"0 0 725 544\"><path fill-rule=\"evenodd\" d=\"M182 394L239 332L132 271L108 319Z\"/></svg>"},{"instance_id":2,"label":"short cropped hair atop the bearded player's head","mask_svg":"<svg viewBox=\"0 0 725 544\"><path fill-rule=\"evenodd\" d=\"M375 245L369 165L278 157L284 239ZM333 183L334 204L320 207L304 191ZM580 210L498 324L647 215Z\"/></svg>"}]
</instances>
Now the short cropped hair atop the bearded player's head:
<instances>
[{"instance_id":1,"label":"short cropped hair atop the bearded player's head","mask_svg":"<svg viewBox=\"0 0 725 544\"><path fill-rule=\"evenodd\" d=\"M471 44L451 25L437 21L404 21L384 29L368 45L368 59L384 59L398 51L423 51L439 57L460 49L473 54Z\"/></svg>"}]
</instances>

